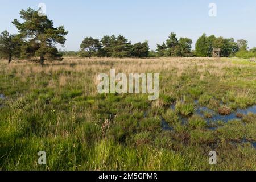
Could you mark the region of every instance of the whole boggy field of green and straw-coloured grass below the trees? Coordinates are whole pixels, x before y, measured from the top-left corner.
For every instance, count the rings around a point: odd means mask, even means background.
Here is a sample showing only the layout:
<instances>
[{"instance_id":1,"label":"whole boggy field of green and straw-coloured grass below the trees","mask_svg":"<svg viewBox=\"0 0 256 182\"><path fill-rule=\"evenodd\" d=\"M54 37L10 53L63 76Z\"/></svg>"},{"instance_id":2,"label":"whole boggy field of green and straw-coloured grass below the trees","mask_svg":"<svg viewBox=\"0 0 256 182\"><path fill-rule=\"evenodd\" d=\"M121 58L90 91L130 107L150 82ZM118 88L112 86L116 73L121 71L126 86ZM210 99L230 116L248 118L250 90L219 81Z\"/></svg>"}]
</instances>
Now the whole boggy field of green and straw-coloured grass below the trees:
<instances>
[{"instance_id":1,"label":"whole boggy field of green and straw-coloured grass below the trees","mask_svg":"<svg viewBox=\"0 0 256 182\"><path fill-rule=\"evenodd\" d=\"M256 170L256 63L237 59L0 60L0 170ZM159 100L98 94L97 75L160 73ZM163 124L164 123L164 124ZM165 127L164 127L164 126ZM38 164L46 151L47 165ZM217 152L217 166L209 152Z\"/></svg>"}]
</instances>

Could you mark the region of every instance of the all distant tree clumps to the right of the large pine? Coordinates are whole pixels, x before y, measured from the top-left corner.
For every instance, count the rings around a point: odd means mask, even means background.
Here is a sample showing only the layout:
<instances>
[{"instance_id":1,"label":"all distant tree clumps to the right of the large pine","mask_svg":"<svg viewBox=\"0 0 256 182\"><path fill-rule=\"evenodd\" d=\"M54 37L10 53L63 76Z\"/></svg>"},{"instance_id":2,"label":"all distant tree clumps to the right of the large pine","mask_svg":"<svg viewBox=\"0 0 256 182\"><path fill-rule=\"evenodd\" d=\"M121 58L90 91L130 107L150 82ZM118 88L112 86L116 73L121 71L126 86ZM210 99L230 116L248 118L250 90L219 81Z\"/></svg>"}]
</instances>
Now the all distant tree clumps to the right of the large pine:
<instances>
[{"instance_id":1,"label":"all distant tree clumps to the right of the large pine","mask_svg":"<svg viewBox=\"0 0 256 182\"><path fill-rule=\"evenodd\" d=\"M148 43L139 42L131 44L124 36L104 36L101 40L85 38L81 44L80 56L82 57L212 57L213 48L221 49L221 57L255 57L252 51L247 51L246 40L234 38L206 36L203 34L196 42L195 51L191 50L192 40L189 38L177 38L171 32L169 38L163 44L157 44L156 52L149 51ZM255 50L256 48L252 49Z\"/></svg>"}]
</instances>

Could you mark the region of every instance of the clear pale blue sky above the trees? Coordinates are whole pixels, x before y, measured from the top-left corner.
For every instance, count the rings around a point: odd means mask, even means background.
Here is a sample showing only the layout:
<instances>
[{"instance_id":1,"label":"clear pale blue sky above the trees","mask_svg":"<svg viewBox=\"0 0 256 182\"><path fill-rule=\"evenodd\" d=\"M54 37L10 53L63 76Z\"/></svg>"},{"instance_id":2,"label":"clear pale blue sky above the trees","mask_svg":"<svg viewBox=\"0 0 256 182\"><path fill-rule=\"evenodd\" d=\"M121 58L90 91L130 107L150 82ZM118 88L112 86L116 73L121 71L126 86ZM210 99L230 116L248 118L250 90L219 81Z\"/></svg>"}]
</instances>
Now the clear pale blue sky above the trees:
<instances>
[{"instance_id":1,"label":"clear pale blue sky above the trees","mask_svg":"<svg viewBox=\"0 0 256 182\"><path fill-rule=\"evenodd\" d=\"M256 47L255 0L0 0L0 31L17 33L11 22L20 19L19 11L38 9L39 3L46 5L55 27L63 25L69 31L62 48L66 51L78 51L85 37L112 34L132 43L148 40L154 50L171 32L191 38L192 48L203 33L245 39L250 48ZM216 4L216 16L209 16L210 3Z\"/></svg>"}]
</instances>

